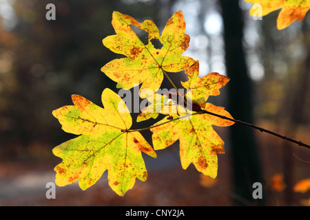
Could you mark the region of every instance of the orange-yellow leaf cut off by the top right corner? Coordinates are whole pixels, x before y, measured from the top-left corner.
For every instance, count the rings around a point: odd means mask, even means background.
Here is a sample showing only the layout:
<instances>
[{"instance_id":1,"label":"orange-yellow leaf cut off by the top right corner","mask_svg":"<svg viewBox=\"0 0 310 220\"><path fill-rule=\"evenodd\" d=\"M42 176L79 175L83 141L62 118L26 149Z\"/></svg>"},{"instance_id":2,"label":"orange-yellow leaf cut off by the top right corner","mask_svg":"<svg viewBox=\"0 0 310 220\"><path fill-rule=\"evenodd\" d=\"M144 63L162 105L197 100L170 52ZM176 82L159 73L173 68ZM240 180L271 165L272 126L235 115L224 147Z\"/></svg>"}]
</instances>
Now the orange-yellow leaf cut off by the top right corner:
<instances>
[{"instance_id":1,"label":"orange-yellow leaf cut off by the top right corner","mask_svg":"<svg viewBox=\"0 0 310 220\"><path fill-rule=\"evenodd\" d=\"M250 3L262 5L262 16L282 8L277 19L277 28L282 30L287 28L296 19L301 21L310 8L310 0L245 0ZM256 12L256 5L253 5L250 14Z\"/></svg>"}]
</instances>

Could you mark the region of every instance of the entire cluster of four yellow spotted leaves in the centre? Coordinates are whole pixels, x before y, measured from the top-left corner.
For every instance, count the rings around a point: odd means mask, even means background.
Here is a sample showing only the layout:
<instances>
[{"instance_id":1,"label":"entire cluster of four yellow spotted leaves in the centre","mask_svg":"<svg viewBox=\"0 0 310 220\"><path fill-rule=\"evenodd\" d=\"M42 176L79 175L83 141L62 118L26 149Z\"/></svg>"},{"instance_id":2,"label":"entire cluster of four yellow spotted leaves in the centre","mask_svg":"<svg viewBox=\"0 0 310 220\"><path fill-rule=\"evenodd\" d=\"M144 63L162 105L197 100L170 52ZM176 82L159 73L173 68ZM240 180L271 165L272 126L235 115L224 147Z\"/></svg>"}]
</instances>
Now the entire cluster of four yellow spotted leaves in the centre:
<instances>
[{"instance_id":1,"label":"entire cluster of four yellow spotted leaves in the centre","mask_svg":"<svg viewBox=\"0 0 310 220\"><path fill-rule=\"evenodd\" d=\"M157 118L159 113L166 117L154 126L134 130L130 129L132 117L125 102L114 91L104 89L101 96L104 109L86 98L73 95L74 105L53 111L65 132L79 135L53 149L54 155L63 159L54 168L56 184L65 186L79 180L79 186L85 190L107 170L110 187L123 196L134 186L136 178L142 181L147 179L141 151L156 157L156 150L167 148L176 140L180 140L180 161L184 169L193 163L198 171L215 178L218 170L216 154L224 153L224 142L212 125L229 126L234 122L206 114L205 111L208 111L232 118L223 107L206 101L209 96L220 94L219 89L229 78L217 73L199 78L198 61L181 56L189 46L181 11L167 21L162 34L152 21L138 23L120 12L113 12L112 25L116 34L103 39L103 44L126 58L110 61L101 71L116 81L121 89L130 89L142 83L139 95L147 98L150 104L138 115L137 122ZM132 30L132 25L148 33L146 45ZM169 79L166 72L185 69L189 78L182 82L183 87L188 89L186 98L185 94L177 94L183 99L183 104L169 94L156 93L163 77ZM149 90L152 93L145 92ZM139 132L145 129L153 132L154 148Z\"/></svg>"}]
</instances>

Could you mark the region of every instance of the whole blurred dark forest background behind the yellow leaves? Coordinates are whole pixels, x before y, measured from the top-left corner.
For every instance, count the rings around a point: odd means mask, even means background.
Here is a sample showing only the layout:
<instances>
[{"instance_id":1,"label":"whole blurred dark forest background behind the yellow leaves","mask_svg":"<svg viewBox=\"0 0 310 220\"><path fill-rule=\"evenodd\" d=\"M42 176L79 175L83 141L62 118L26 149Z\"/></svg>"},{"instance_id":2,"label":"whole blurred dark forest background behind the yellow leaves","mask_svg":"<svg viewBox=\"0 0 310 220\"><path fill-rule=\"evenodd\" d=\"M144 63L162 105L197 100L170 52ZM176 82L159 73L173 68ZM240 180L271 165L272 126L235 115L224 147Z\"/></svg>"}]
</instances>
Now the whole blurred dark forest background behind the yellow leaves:
<instances>
[{"instance_id":1,"label":"whole blurred dark forest background behind the yellow leaves","mask_svg":"<svg viewBox=\"0 0 310 220\"><path fill-rule=\"evenodd\" d=\"M45 19L48 3L56 5L55 21ZM216 182L193 166L183 170L176 144L158 151L158 159L143 155L149 177L137 180L125 197L112 192L105 173L88 190L72 184L56 187L56 199L45 198L45 184L54 181L53 168L61 162L52 148L74 137L61 130L52 111L72 104L72 94L102 105L103 89L117 91L100 70L119 57L102 44L114 34L114 10L152 19L160 30L183 10L191 36L184 55L200 61L200 77L218 72L231 78L209 102L237 120L309 144L310 15L280 31L278 11L254 20L250 7L238 0L0 0L0 205L309 205L309 192L293 192L293 186L309 178L310 166L293 153L310 161L310 150L240 125L215 128L226 151L218 155ZM183 73L171 76L186 80ZM151 143L152 133L143 135ZM252 197L256 181L263 199Z\"/></svg>"}]
</instances>

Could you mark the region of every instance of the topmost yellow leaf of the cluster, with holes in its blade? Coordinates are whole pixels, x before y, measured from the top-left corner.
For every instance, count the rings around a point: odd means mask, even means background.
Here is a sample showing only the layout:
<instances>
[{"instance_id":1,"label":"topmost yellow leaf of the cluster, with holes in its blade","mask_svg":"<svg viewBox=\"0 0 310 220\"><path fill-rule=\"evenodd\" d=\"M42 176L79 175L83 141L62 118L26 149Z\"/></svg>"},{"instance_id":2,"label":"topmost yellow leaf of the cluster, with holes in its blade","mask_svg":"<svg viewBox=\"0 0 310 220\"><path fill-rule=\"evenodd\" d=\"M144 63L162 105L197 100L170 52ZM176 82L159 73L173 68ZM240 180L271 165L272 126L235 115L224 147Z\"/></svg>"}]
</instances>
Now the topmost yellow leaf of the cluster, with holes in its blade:
<instances>
[{"instance_id":1,"label":"topmost yellow leaf of the cluster, with holes in its blade","mask_svg":"<svg viewBox=\"0 0 310 220\"><path fill-rule=\"evenodd\" d=\"M194 63L192 58L181 56L189 46L189 36L185 34L185 20L181 11L167 21L161 35L153 21L138 23L120 12L113 12L112 25L116 34L103 39L103 45L127 58L110 61L101 71L118 83L118 88L131 89L142 83L140 91L152 89L155 92L163 82L163 71L180 72ZM147 45L138 38L130 25L148 33Z\"/></svg>"}]
</instances>

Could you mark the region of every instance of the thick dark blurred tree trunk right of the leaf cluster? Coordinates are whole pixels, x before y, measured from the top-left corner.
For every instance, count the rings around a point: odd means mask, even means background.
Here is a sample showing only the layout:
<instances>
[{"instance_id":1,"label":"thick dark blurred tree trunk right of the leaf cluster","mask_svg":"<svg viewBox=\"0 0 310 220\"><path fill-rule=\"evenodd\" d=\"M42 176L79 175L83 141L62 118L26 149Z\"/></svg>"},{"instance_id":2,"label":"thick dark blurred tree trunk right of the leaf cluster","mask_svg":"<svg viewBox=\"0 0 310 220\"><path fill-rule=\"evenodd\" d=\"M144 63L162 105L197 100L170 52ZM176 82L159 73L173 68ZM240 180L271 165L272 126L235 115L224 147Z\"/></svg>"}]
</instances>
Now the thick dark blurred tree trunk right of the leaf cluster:
<instances>
[{"instance_id":1,"label":"thick dark blurred tree trunk right of the leaf cluster","mask_svg":"<svg viewBox=\"0 0 310 220\"><path fill-rule=\"evenodd\" d=\"M220 5L224 23L227 76L231 78L228 87L228 110L234 118L251 123L253 121L252 85L247 76L247 65L242 50L242 12L238 0L221 0ZM234 190L244 199L254 201L252 186L257 181L262 183L262 177L256 142L251 129L237 124L231 126L231 154ZM256 202L262 204L263 199L257 199ZM238 201L235 202L238 203Z\"/></svg>"}]
</instances>

